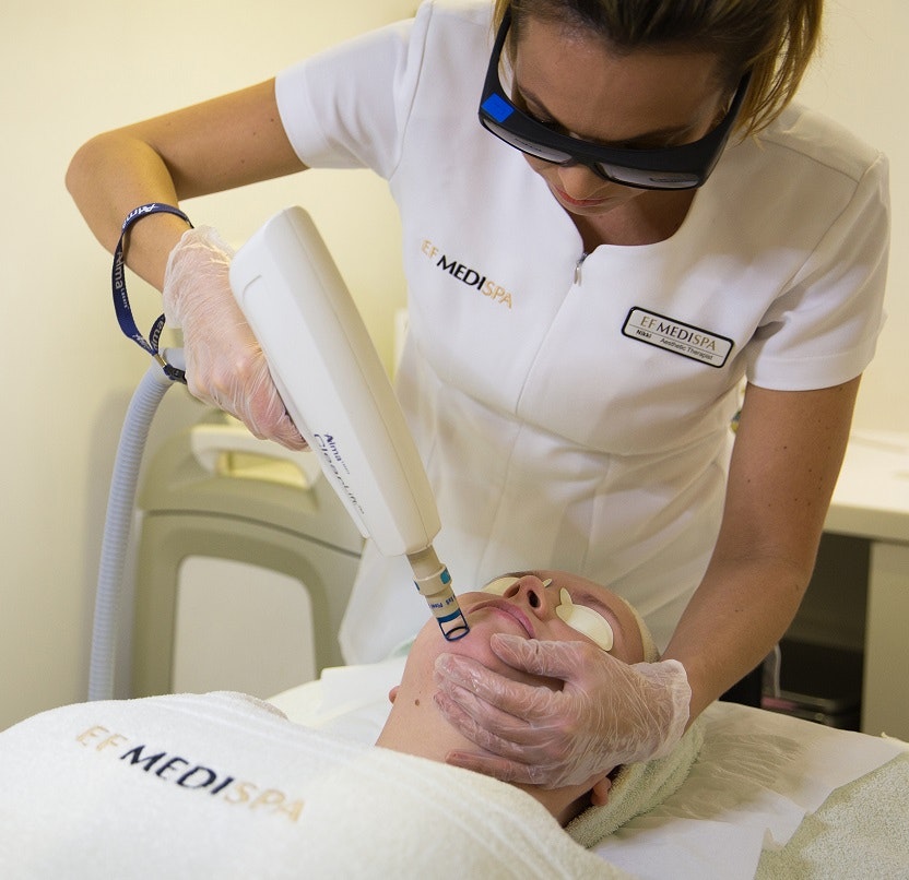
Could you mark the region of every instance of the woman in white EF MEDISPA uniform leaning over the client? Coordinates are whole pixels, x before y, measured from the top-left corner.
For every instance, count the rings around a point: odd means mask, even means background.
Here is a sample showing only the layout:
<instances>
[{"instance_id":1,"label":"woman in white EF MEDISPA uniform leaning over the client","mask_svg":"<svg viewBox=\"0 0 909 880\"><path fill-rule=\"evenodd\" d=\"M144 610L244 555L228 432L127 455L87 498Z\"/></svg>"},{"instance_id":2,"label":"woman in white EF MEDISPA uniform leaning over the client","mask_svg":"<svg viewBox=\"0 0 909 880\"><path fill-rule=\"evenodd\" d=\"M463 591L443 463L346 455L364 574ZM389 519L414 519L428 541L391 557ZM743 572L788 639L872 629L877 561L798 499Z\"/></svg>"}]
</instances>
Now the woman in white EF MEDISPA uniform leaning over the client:
<instances>
[{"instance_id":1,"label":"woman in white EF MEDISPA uniform leaning over the client","mask_svg":"<svg viewBox=\"0 0 909 880\"><path fill-rule=\"evenodd\" d=\"M628 667L500 637L500 658L557 693L440 658L437 699L483 747L452 762L564 785L662 753L799 606L888 241L884 157L791 104L821 5L430 0L73 159L70 191L109 249L145 203L306 167L389 181L409 283L399 394L456 582L575 571L664 649ZM298 444L214 233L151 214L128 261L184 329L190 390ZM416 631L409 580L367 548L349 662Z\"/></svg>"}]
</instances>

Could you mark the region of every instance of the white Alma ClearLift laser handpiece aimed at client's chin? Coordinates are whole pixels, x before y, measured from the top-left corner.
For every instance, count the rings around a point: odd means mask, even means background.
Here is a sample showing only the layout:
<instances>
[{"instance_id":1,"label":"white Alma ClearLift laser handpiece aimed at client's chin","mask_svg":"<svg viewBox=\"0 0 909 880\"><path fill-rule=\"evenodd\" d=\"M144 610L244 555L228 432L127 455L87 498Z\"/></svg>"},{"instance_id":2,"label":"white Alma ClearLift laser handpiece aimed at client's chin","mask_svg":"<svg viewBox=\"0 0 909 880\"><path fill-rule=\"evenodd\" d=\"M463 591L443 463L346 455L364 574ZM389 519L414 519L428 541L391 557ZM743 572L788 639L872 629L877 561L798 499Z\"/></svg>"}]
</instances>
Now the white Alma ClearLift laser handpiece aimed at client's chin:
<instances>
[{"instance_id":1,"label":"white Alma ClearLift laser handpiece aimed at client's chin","mask_svg":"<svg viewBox=\"0 0 909 880\"><path fill-rule=\"evenodd\" d=\"M234 257L231 286L291 418L364 537L406 556L442 635L470 628L433 549L426 471L366 325L312 219L290 207Z\"/></svg>"}]
</instances>

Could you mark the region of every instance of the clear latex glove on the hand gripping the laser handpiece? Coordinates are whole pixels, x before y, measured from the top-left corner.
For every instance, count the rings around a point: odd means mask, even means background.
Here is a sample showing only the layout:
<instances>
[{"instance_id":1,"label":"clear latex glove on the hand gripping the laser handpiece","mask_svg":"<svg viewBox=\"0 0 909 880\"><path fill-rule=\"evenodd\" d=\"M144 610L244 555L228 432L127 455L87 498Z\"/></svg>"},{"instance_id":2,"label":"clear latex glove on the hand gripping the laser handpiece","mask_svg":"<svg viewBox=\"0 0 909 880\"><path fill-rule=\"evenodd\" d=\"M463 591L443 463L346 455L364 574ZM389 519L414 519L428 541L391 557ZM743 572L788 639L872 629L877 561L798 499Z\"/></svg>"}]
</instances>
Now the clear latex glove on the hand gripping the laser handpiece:
<instances>
[{"instance_id":1,"label":"clear latex glove on the hand gripping the laser handpiece","mask_svg":"<svg viewBox=\"0 0 909 880\"><path fill-rule=\"evenodd\" d=\"M233 257L214 229L200 226L184 233L167 260L164 314L184 331L187 387L200 401L236 416L256 437L304 449L231 290Z\"/></svg>"}]
</instances>

